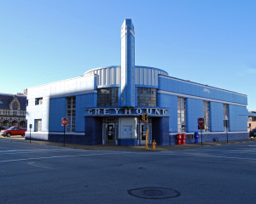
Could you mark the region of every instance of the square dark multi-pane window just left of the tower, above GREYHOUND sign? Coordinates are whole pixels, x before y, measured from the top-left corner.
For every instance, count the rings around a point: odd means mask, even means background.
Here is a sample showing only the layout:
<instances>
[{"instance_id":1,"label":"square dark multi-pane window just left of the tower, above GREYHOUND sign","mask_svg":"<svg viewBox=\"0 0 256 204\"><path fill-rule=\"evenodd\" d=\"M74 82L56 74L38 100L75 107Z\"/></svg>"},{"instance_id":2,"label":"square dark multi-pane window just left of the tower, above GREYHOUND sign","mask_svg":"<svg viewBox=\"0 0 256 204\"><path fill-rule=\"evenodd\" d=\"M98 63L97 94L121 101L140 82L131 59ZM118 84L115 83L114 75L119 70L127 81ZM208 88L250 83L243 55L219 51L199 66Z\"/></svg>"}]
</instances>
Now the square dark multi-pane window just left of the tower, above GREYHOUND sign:
<instances>
[{"instance_id":1,"label":"square dark multi-pane window just left of the tower, above GREYHOUND sign","mask_svg":"<svg viewBox=\"0 0 256 204\"><path fill-rule=\"evenodd\" d=\"M97 89L98 106L119 105L119 88L99 88Z\"/></svg>"}]
</instances>

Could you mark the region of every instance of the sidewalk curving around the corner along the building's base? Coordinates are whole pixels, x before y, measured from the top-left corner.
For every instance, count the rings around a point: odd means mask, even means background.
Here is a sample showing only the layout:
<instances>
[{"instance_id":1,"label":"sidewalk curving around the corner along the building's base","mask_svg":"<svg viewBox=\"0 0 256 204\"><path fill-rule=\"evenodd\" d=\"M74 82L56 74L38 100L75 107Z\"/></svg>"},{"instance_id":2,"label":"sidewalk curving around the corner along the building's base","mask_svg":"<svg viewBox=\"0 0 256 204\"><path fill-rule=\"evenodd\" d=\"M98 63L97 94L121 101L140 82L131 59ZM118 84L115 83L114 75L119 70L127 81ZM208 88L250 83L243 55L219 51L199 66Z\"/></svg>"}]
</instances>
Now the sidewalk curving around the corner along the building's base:
<instances>
[{"instance_id":1,"label":"sidewalk curving around the corner along the building's base","mask_svg":"<svg viewBox=\"0 0 256 204\"><path fill-rule=\"evenodd\" d=\"M29 143L29 140L26 140L22 137L11 137L11 138L3 138L8 140L20 141ZM48 141L37 141L32 140L32 144L45 144L45 145L54 145L54 146L61 146L63 147L63 143L54 143ZM256 138L249 138L249 139L241 139L241 140L230 140L229 143L227 141L218 141L218 142L203 142L198 144L172 144L167 146L156 145L156 149L153 150L151 145L148 145L148 150L145 150L144 145L138 146L119 146L119 145L81 145L81 144L65 144L67 148L73 149L82 149L82 150L116 150L116 151L166 151L166 150L187 150L187 149L194 149L194 148L201 148L201 147L208 147L208 146L216 146L216 145L228 145L228 144L238 144L238 143L247 143L247 142L256 142Z\"/></svg>"}]
</instances>

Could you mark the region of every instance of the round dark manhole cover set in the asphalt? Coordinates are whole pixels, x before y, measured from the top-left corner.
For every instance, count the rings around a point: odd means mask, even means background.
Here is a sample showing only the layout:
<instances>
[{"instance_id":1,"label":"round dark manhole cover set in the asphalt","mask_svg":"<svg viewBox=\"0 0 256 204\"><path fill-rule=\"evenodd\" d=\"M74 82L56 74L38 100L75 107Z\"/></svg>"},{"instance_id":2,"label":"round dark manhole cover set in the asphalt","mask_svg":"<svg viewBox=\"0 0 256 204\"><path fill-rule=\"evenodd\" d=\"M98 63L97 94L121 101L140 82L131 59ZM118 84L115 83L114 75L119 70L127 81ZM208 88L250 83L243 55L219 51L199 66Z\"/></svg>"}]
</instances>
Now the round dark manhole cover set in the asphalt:
<instances>
[{"instance_id":1,"label":"round dark manhole cover set in the asphalt","mask_svg":"<svg viewBox=\"0 0 256 204\"><path fill-rule=\"evenodd\" d=\"M128 190L130 195L145 199L166 199L180 195L177 190L160 187L145 187L134 190Z\"/></svg>"}]
</instances>

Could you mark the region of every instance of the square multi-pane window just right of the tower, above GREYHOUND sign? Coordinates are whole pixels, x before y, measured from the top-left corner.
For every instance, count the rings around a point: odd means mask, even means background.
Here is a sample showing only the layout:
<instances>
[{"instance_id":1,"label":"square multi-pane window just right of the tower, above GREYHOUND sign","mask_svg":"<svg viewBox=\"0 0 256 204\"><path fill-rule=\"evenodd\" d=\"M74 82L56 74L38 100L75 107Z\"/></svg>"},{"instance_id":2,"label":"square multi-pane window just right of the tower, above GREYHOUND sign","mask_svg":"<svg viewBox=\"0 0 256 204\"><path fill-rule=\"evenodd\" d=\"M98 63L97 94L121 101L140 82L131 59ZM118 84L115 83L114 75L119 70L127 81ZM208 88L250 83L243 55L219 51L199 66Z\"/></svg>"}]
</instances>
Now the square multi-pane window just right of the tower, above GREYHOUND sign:
<instances>
[{"instance_id":1,"label":"square multi-pane window just right of the tower, above GREYHOUND sign","mask_svg":"<svg viewBox=\"0 0 256 204\"><path fill-rule=\"evenodd\" d=\"M137 105L138 106L156 106L157 105L156 88L137 88Z\"/></svg>"}]
</instances>

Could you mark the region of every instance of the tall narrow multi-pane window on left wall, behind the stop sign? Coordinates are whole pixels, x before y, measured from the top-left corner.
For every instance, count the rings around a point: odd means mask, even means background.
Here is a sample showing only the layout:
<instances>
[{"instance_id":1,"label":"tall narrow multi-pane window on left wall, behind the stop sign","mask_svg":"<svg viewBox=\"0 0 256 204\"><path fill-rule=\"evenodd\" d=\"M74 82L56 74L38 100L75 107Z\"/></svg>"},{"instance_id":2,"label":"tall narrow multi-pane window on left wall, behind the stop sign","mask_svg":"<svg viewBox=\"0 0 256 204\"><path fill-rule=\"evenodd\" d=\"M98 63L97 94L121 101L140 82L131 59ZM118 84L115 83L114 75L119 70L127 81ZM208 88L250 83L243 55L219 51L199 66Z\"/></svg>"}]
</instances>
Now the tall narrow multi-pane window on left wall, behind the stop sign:
<instances>
[{"instance_id":1,"label":"tall narrow multi-pane window on left wall, behind the stop sign","mask_svg":"<svg viewBox=\"0 0 256 204\"><path fill-rule=\"evenodd\" d=\"M67 98L67 132L75 132L76 122L76 97Z\"/></svg>"}]
</instances>

